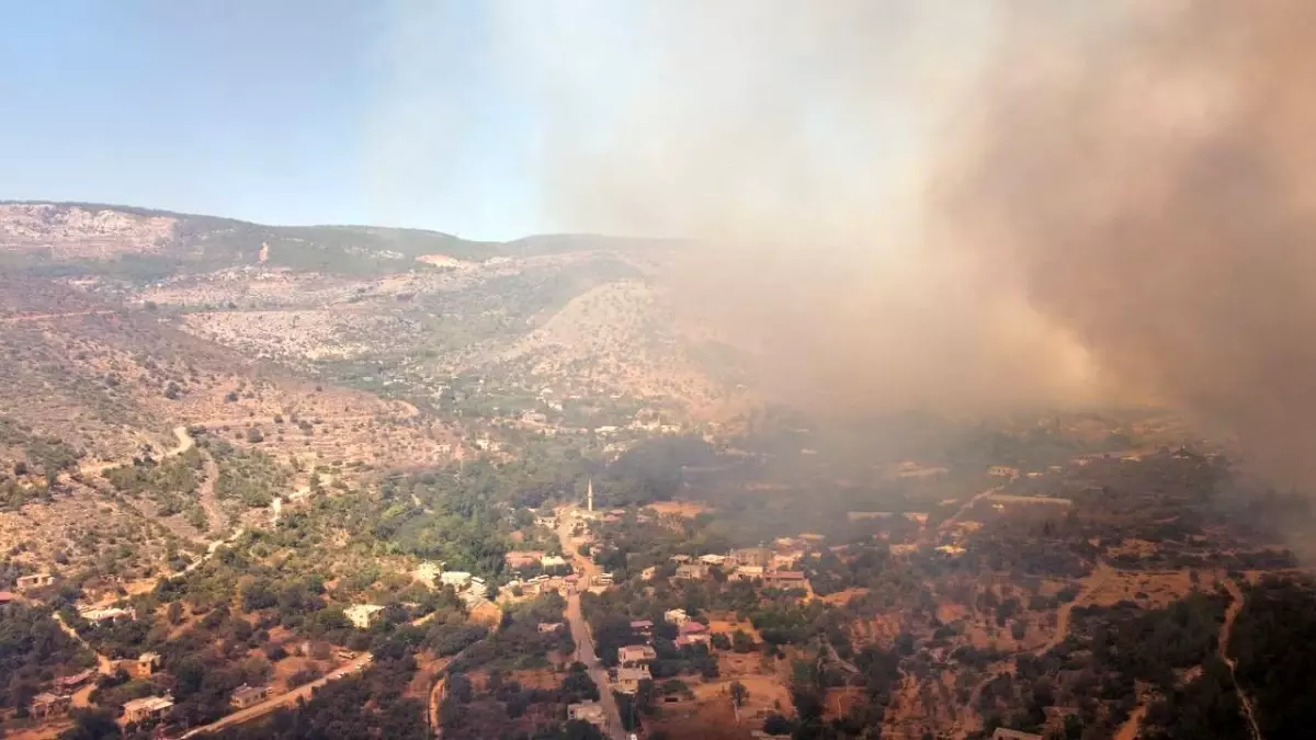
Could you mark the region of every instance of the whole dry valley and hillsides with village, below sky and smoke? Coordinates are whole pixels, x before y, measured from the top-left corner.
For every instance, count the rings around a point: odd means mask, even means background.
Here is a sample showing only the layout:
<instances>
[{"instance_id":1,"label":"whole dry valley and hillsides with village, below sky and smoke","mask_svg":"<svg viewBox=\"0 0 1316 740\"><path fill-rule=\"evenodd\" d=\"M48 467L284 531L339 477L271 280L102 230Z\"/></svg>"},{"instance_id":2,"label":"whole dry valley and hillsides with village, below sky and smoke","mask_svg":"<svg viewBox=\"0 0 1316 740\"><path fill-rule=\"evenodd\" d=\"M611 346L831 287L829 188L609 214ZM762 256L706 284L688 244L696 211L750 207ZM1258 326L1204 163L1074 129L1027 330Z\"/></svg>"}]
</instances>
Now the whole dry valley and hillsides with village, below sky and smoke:
<instances>
[{"instance_id":1,"label":"whole dry valley and hillsides with village, below sky and smoke","mask_svg":"<svg viewBox=\"0 0 1316 740\"><path fill-rule=\"evenodd\" d=\"M1292 736L1296 492L1161 408L813 417L679 249L0 207L7 736Z\"/></svg>"}]
</instances>

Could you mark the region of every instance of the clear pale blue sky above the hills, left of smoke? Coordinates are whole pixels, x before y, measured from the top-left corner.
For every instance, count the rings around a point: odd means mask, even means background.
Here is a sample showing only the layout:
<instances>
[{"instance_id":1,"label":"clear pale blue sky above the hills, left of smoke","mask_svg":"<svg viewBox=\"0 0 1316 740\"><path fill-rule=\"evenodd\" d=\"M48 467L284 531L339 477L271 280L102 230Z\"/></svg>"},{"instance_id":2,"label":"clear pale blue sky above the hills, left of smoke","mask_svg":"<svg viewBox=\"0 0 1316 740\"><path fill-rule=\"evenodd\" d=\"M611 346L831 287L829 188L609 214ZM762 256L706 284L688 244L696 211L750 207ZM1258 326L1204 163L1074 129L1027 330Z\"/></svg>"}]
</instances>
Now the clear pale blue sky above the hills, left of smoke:
<instances>
[{"instance_id":1,"label":"clear pale blue sky above the hills, left of smoke","mask_svg":"<svg viewBox=\"0 0 1316 740\"><path fill-rule=\"evenodd\" d=\"M529 121L511 115L486 30L478 1L0 3L0 199L538 230L519 171ZM429 96L392 145L399 84ZM457 111L459 141L383 182Z\"/></svg>"}]
</instances>

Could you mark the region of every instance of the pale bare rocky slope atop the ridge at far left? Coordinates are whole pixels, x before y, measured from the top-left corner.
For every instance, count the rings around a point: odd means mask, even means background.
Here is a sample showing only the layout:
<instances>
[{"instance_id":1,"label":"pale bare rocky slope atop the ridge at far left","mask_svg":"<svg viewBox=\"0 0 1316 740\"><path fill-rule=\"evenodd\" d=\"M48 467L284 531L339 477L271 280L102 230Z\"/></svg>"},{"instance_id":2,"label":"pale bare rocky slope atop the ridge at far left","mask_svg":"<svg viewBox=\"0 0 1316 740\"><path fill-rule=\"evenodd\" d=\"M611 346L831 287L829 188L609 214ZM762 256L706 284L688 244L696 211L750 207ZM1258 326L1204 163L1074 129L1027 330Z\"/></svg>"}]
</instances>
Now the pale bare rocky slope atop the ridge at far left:
<instances>
[{"instance_id":1,"label":"pale bare rocky slope atop the ridge at far left","mask_svg":"<svg viewBox=\"0 0 1316 740\"><path fill-rule=\"evenodd\" d=\"M63 204L0 204L0 251L42 251L62 259L104 259L159 251L178 220Z\"/></svg>"}]
</instances>

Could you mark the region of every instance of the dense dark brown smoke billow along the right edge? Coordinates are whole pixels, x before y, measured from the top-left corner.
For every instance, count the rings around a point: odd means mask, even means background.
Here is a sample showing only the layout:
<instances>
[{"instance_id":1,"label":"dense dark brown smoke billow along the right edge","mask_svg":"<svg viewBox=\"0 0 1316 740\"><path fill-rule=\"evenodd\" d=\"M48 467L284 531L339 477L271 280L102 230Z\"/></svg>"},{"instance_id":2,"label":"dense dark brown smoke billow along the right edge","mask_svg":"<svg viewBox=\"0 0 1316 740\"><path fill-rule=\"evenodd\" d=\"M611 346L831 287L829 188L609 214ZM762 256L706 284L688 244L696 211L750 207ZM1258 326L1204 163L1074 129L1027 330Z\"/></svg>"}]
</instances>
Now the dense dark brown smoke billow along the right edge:
<instances>
[{"instance_id":1,"label":"dense dark brown smoke billow along the right edge","mask_svg":"<svg viewBox=\"0 0 1316 740\"><path fill-rule=\"evenodd\" d=\"M1055 8L987 70L958 244L1125 387L1316 482L1316 4Z\"/></svg>"}]
</instances>

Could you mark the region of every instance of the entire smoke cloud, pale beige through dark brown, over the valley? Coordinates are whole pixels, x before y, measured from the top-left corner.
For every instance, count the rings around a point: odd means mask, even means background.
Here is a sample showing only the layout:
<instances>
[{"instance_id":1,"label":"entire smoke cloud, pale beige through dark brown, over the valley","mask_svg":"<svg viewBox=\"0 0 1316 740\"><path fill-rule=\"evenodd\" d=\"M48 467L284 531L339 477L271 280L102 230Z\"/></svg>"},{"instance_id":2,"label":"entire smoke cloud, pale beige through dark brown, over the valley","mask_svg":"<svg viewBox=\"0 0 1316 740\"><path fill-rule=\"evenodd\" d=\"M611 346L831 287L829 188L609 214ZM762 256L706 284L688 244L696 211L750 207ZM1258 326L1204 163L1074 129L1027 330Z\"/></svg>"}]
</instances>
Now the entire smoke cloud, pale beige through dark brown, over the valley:
<instances>
[{"instance_id":1,"label":"entire smoke cloud, pale beige through dark brown, over the valley","mask_svg":"<svg viewBox=\"0 0 1316 740\"><path fill-rule=\"evenodd\" d=\"M1316 4L495 8L544 221L695 238L682 319L775 392L1150 398L1316 475Z\"/></svg>"}]
</instances>

